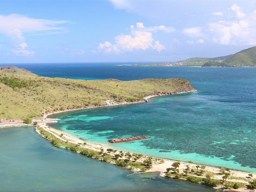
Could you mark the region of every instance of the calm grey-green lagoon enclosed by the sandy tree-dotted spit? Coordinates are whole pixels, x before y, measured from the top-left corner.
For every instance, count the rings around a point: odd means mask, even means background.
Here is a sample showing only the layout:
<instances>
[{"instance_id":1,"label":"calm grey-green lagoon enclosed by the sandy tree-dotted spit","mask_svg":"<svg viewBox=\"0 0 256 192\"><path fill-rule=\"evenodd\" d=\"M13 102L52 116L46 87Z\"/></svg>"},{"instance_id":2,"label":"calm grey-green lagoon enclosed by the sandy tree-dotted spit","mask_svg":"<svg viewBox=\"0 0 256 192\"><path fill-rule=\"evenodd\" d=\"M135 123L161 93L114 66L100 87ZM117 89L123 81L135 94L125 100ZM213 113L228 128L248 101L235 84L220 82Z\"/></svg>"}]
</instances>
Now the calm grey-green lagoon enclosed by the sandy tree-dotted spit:
<instances>
[{"instance_id":1,"label":"calm grey-green lagoon enclosed by the sandy tree-dotted spit","mask_svg":"<svg viewBox=\"0 0 256 192\"><path fill-rule=\"evenodd\" d=\"M56 148L33 127L2 128L0 141L0 191L218 191Z\"/></svg>"}]
</instances>

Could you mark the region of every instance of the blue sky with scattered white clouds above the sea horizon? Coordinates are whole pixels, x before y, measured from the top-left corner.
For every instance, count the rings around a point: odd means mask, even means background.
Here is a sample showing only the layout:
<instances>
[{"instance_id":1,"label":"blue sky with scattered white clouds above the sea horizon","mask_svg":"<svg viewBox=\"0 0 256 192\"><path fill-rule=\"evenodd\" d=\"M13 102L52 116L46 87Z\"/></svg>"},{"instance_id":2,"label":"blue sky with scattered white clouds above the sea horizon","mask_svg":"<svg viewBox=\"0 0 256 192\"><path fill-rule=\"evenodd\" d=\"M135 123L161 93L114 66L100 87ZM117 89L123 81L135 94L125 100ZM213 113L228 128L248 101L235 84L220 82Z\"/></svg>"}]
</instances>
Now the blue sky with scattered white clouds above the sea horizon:
<instances>
[{"instance_id":1,"label":"blue sky with scattered white clouds above the sea horizon","mask_svg":"<svg viewBox=\"0 0 256 192\"><path fill-rule=\"evenodd\" d=\"M0 63L172 62L256 46L256 0L0 0Z\"/></svg>"}]
</instances>

